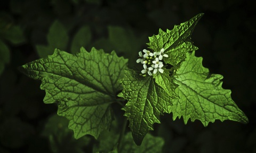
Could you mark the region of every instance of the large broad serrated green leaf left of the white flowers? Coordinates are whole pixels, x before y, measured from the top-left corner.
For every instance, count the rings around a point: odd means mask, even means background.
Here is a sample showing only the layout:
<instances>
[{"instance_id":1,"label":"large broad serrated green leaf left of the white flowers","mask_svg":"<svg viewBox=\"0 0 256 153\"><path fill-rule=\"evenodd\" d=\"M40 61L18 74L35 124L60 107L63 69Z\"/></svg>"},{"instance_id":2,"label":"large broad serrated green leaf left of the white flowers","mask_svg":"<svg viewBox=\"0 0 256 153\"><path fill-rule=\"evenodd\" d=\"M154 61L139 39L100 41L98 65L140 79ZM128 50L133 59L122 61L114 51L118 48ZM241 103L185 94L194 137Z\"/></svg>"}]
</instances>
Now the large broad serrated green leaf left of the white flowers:
<instances>
[{"instance_id":1,"label":"large broad serrated green leaf left of the white flowers","mask_svg":"<svg viewBox=\"0 0 256 153\"><path fill-rule=\"evenodd\" d=\"M45 103L58 104L58 114L69 120L75 138L91 134L96 139L108 130L113 113L110 104L122 90L117 80L124 75L127 61L92 48L73 55L58 49L47 58L29 62L20 70L33 79L42 80Z\"/></svg>"}]
</instances>

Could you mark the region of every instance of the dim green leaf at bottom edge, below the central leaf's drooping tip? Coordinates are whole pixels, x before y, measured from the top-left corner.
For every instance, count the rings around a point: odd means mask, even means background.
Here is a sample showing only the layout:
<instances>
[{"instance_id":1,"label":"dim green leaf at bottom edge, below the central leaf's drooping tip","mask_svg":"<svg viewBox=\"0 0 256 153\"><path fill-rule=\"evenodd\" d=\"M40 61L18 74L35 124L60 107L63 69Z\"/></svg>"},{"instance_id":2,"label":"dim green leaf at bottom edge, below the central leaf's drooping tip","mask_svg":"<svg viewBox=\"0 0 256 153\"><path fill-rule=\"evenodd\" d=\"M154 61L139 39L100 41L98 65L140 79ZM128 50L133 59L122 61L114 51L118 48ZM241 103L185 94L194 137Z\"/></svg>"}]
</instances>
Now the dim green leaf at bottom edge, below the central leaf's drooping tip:
<instances>
[{"instance_id":1,"label":"dim green leaf at bottom edge, below the central leaf's drooping tip","mask_svg":"<svg viewBox=\"0 0 256 153\"><path fill-rule=\"evenodd\" d=\"M160 137L152 136L147 134L144 141L141 143L141 146L137 146L133 139L131 132L125 134L124 139L121 143L121 153L122 152L138 152L138 153L155 153L162 152L162 147L164 146L164 140Z\"/></svg>"}]
</instances>

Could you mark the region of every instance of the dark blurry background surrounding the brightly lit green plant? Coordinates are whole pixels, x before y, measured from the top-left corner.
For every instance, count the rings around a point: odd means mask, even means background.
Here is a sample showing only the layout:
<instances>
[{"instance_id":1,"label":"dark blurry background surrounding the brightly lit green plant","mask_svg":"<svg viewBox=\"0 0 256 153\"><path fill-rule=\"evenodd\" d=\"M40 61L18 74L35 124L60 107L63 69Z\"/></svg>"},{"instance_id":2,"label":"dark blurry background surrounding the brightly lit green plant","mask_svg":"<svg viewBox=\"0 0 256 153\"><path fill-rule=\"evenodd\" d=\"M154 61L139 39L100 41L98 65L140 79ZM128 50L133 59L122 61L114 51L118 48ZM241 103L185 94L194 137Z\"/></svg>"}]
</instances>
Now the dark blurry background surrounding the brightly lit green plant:
<instances>
[{"instance_id":1,"label":"dark blurry background surrounding the brightly lit green plant","mask_svg":"<svg viewBox=\"0 0 256 153\"><path fill-rule=\"evenodd\" d=\"M55 116L57 105L44 104L40 81L21 74L17 67L39 57L38 45L49 46L47 34L58 20L72 51L73 39L83 26L90 36L83 44L94 46L135 63L147 48L148 36L172 29L205 13L192 35L197 57L211 73L221 74L223 88L249 118L249 124L226 120L203 127L198 120L183 124L165 114L151 134L165 140L163 152L256 152L255 105L255 3L242 0L121 1L121 0L11 0L0 2L0 40L10 50L0 51L0 152L91 152L92 137L74 140L67 122ZM58 36L58 35L56 35ZM81 38L81 40L83 37ZM62 41L60 37L58 40ZM57 43L58 44L58 43ZM50 46L52 53L54 47ZM47 49L49 49L47 48ZM122 114L120 114L122 115ZM70 150L68 150L70 149ZM65 152L61 151L61 152Z\"/></svg>"}]
</instances>

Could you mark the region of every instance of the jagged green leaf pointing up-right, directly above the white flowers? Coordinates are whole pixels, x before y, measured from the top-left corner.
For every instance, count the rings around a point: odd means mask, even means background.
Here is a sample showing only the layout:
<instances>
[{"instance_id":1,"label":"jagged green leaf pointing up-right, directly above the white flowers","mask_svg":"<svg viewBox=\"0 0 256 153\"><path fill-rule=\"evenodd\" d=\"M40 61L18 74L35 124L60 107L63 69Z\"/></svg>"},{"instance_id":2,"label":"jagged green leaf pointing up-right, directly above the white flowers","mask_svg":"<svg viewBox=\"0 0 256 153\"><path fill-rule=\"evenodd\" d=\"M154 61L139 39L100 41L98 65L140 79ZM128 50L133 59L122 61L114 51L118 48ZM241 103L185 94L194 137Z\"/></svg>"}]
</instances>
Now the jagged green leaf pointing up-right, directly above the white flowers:
<instances>
[{"instance_id":1,"label":"jagged green leaf pointing up-right, directly above the white flowers","mask_svg":"<svg viewBox=\"0 0 256 153\"><path fill-rule=\"evenodd\" d=\"M178 65L180 61L185 60L186 53L197 50L197 47L191 42L191 34L197 22L203 13L197 14L195 17L181 23L179 26L175 25L172 30L166 30L166 33L159 29L158 35L149 37L149 49L154 52L159 52L162 48L165 49L165 54L169 55L169 58L163 59L165 63L169 63L172 66Z\"/></svg>"}]
</instances>

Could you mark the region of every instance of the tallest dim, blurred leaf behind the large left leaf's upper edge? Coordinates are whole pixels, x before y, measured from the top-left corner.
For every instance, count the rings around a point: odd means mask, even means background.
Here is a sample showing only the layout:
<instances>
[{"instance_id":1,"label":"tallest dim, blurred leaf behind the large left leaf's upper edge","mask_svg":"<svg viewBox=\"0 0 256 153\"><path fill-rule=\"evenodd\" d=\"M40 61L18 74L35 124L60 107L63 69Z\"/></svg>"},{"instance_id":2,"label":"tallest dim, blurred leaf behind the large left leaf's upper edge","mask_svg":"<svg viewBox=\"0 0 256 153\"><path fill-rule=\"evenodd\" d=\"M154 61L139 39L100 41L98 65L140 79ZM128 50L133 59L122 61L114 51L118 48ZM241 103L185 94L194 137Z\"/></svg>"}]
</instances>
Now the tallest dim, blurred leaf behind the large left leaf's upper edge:
<instances>
[{"instance_id":1,"label":"tallest dim, blurred leaf behind the large left leaf's upper edge","mask_svg":"<svg viewBox=\"0 0 256 153\"><path fill-rule=\"evenodd\" d=\"M65 27L58 20L55 20L47 34L48 45L36 45L36 50L40 58L53 54L57 47L60 50L66 50L68 44L68 33Z\"/></svg>"}]
</instances>

